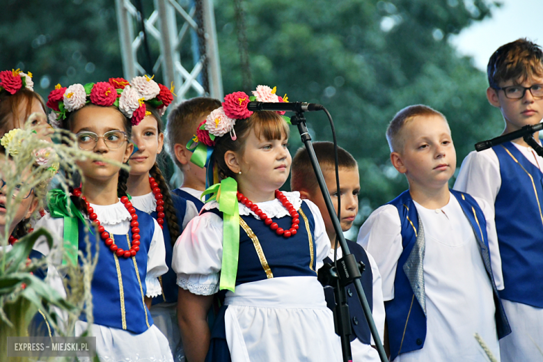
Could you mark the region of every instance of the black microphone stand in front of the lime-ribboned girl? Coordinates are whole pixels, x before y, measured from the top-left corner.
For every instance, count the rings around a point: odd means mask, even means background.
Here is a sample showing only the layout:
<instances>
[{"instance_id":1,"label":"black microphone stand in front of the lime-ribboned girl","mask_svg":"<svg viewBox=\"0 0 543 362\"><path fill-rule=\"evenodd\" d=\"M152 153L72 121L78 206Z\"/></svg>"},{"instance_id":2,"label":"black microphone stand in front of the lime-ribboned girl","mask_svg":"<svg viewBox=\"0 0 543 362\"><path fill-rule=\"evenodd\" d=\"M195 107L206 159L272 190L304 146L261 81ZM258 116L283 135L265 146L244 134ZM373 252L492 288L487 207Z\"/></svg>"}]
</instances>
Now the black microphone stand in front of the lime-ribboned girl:
<instances>
[{"instance_id":1,"label":"black microphone stand in front of the lime-ribboned girl","mask_svg":"<svg viewBox=\"0 0 543 362\"><path fill-rule=\"evenodd\" d=\"M304 117L303 111L296 111L296 115L290 118L290 123L298 127L301 141L304 143L304 145L306 145L309 159L313 165L315 175L317 176L317 182L319 183L322 196L324 197L324 203L326 203L326 209L328 209L328 213L330 214L330 218L333 223L333 228L336 230L336 235L343 251L343 258L337 261L337 265L339 266L337 269L331 265L326 265L320 269L319 273L319 281L324 283L324 285L331 285L334 288L334 294L336 296L334 322L336 324L336 333L338 333L341 338L343 361L352 362L351 340L349 337L352 334L352 331L349 318L349 306L347 305L347 294L345 294L345 286L350 283L354 283L356 294L359 296L365 318L368 321L368 326L370 326L370 332L372 333L373 340L377 347L379 358L381 359L381 362L387 362L388 359L381 343L381 338L379 338L379 333L377 332L377 327L375 326L375 322L373 320L368 299L365 297L362 284L359 280L361 277L360 269L363 270L363 268L361 268L363 265L358 265L356 263L354 255L349 251L349 246L347 246L347 242L345 242L343 230L341 230L340 222L338 221L338 216L336 215L336 210L334 210L328 188L326 187L326 182L324 182L324 176L322 175L319 162L317 161L317 156L315 155L315 150L313 150L311 136L309 135L306 126L306 118ZM323 275L321 276L321 274Z\"/></svg>"}]
</instances>

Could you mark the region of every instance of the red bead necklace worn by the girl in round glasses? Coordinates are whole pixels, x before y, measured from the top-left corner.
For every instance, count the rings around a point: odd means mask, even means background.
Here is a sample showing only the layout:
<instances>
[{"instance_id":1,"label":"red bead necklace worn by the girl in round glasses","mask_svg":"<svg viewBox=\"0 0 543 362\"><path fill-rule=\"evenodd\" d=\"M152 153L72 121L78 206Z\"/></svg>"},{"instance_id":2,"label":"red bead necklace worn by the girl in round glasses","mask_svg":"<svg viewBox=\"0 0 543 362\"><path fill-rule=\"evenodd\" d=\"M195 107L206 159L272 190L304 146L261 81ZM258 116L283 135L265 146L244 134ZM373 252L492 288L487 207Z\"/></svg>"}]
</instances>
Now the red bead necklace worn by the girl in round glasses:
<instances>
[{"instance_id":1,"label":"red bead necklace worn by the girl in round glasses","mask_svg":"<svg viewBox=\"0 0 543 362\"><path fill-rule=\"evenodd\" d=\"M111 239L109 233L106 231L104 226L100 225L100 221L98 220L97 214L95 214L93 207L91 207L91 204L88 203L85 196L81 196L81 189L74 189L74 196L81 197L87 206L87 213L88 218L95 223L95 225L98 227L98 232L100 233L100 237L102 237L102 240L104 240L107 247L109 247L109 250L113 251L113 253L116 253L118 257L123 256L124 258L132 258L132 256L136 256L136 253L139 251L139 223L138 223L138 215L136 215L136 209L134 209L134 206L132 206L132 203L126 196L123 196L120 198L120 202L123 203L126 207L126 210L130 213L130 217L132 218L130 220L130 226L132 227L132 246L130 246L130 250L124 250L120 249L116 244L113 242L113 239Z\"/></svg>"}]
</instances>

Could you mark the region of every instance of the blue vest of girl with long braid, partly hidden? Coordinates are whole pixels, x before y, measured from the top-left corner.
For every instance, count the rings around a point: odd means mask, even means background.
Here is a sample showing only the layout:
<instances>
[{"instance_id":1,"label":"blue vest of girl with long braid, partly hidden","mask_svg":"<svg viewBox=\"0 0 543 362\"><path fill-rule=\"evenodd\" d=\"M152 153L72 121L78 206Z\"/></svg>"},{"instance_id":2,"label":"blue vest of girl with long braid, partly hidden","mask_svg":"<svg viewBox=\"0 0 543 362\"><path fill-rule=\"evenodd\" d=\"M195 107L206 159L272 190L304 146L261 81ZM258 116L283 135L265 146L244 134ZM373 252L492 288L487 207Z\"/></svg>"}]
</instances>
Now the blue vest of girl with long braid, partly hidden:
<instances>
[{"instance_id":1,"label":"blue vest of girl with long braid, partly hidden","mask_svg":"<svg viewBox=\"0 0 543 362\"><path fill-rule=\"evenodd\" d=\"M184 214L187 211L187 200L175 194L171 195L171 200L173 201L173 207L175 207L175 215L178 217L178 227L181 233L183 231ZM151 216L157 219L158 213L154 211L151 213ZM171 258L173 255L172 242L175 244L176 240L171 239L166 220L164 220L163 226L162 235L164 235L164 246L166 246L166 265L168 265L168 272L159 276L162 294L152 299L152 305L162 303L163 301L166 301L167 303L177 303L178 301L177 276L171 267Z\"/></svg>"}]
</instances>

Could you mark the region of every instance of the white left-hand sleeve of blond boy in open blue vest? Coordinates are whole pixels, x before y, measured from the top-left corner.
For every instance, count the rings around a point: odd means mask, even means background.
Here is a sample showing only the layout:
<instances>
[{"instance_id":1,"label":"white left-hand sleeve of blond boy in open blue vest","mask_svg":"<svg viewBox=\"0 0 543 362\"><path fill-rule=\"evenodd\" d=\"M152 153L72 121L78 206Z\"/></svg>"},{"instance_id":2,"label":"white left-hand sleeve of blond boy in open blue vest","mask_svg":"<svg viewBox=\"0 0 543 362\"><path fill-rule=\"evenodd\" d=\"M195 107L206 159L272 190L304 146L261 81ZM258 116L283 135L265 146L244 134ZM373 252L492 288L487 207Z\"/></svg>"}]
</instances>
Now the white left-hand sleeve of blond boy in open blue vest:
<instances>
[{"instance_id":1,"label":"white left-hand sleeve of blond boy in open blue vest","mask_svg":"<svg viewBox=\"0 0 543 362\"><path fill-rule=\"evenodd\" d=\"M383 286L383 300L394 299L394 280L398 259L402 255L402 223L398 209L383 205L363 223L356 239L374 258Z\"/></svg>"}]
</instances>

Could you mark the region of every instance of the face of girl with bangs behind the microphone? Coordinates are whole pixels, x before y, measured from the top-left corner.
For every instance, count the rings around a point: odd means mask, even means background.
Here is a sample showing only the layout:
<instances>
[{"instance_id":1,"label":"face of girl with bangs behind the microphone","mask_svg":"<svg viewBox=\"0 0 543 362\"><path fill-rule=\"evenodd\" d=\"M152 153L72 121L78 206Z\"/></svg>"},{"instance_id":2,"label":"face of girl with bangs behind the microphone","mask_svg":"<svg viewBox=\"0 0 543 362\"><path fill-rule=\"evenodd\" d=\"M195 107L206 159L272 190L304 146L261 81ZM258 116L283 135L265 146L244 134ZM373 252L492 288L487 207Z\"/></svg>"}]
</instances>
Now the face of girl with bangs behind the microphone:
<instances>
[{"instance_id":1,"label":"face of girl with bangs behind the microphone","mask_svg":"<svg viewBox=\"0 0 543 362\"><path fill-rule=\"evenodd\" d=\"M281 139L267 140L258 138L255 129L251 129L240 152L241 157L236 157L239 167L232 170L235 173L242 171L237 175L240 189L273 192L283 186L292 162L287 145L286 135Z\"/></svg>"}]
</instances>

